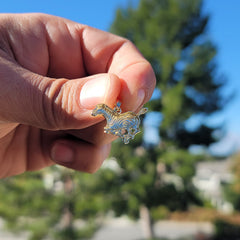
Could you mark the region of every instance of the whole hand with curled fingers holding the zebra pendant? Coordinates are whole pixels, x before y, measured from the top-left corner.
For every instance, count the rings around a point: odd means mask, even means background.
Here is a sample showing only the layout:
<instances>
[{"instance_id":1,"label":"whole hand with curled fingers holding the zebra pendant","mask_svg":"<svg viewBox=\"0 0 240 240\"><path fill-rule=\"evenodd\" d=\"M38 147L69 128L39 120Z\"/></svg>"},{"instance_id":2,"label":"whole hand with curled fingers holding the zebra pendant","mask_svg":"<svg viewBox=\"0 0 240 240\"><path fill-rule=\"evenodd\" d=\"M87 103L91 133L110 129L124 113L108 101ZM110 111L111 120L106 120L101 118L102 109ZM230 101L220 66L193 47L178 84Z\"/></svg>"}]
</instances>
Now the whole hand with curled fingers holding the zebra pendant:
<instances>
[{"instance_id":1,"label":"whole hand with curled fingers holding the zebra pendant","mask_svg":"<svg viewBox=\"0 0 240 240\"><path fill-rule=\"evenodd\" d=\"M0 177L54 163L94 172L112 136L98 103L136 111L155 87L128 40L44 14L0 14Z\"/></svg>"}]
</instances>

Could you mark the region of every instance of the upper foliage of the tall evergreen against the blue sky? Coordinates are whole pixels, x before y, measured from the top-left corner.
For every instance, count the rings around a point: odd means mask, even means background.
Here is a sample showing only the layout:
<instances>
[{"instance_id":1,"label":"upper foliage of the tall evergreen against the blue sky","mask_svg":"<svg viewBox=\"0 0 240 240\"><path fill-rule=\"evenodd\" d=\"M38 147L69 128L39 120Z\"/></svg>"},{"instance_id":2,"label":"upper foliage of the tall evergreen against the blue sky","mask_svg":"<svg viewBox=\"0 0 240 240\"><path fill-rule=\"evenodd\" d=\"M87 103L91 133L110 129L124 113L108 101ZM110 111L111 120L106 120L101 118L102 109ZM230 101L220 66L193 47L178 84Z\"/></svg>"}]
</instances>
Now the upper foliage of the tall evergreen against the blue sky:
<instances>
[{"instance_id":1,"label":"upper foliage of the tall evergreen against the blue sky","mask_svg":"<svg viewBox=\"0 0 240 240\"><path fill-rule=\"evenodd\" d=\"M208 20L199 0L141 0L137 8L119 9L111 27L133 41L152 64L161 99L148 107L163 115L161 137L181 148L214 142L215 128L204 119L191 132L186 120L223 106L224 79L217 76L216 47L205 34Z\"/></svg>"}]
</instances>

